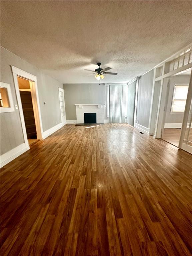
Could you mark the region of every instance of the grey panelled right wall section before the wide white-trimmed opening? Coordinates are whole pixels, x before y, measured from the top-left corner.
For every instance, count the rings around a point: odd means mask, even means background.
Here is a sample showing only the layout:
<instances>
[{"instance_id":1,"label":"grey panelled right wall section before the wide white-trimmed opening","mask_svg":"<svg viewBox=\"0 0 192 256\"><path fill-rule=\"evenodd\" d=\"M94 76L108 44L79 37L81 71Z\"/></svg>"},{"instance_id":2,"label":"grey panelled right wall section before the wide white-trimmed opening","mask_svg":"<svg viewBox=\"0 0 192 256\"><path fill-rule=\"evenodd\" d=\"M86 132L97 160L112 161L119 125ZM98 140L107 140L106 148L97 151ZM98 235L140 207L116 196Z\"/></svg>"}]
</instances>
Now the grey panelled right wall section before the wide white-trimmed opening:
<instances>
[{"instance_id":1,"label":"grey panelled right wall section before the wide white-trimmed opening","mask_svg":"<svg viewBox=\"0 0 192 256\"><path fill-rule=\"evenodd\" d=\"M149 128L154 69L141 76L138 85L136 123Z\"/></svg>"}]
</instances>

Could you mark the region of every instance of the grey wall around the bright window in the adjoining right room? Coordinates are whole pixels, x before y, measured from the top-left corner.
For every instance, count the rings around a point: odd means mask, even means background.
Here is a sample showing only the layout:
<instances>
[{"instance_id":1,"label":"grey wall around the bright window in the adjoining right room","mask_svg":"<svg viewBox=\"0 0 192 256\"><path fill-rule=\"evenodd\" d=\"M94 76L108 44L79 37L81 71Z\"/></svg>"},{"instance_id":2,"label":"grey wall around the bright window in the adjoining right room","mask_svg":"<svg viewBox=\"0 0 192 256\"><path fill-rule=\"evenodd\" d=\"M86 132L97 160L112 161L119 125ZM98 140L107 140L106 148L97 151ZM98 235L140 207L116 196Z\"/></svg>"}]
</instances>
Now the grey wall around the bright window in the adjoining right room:
<instances>
[{"instance_id":1,"label":"grey wall around the bright window in the adjoining right room","mask_svg":"<svg viewBox=\"0 0 192 256\"><path fill-rule=\"evenodd\" d=\"M174 84L189 84L190 75L177 75L169 78L170 86L169 86L169 95L167 102L167 111L165 117L165 123L182 123L184 113L170 113L171 112L171 104L174 92Z\"/></svg>"}]
</instances>

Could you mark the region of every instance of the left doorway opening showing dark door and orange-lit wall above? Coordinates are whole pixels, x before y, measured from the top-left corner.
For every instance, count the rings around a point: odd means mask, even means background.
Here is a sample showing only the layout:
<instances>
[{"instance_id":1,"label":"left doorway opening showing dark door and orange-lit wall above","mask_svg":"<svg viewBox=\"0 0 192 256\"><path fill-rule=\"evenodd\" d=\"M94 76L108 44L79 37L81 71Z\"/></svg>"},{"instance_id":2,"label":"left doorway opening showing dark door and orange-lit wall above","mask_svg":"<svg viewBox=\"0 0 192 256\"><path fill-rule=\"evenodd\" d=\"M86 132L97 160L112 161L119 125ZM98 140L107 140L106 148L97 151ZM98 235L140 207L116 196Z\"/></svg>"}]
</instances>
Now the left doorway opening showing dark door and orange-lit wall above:
<instances>
[{"instance_id":1,"label":"left doorway opening showing dark door and orange-lit wall above","mask_svg":"<svg viewBox=\"0 0 192 256\"><path fill-rule=\"evenodd\" d=\"M25 128L29 145L37 141L37 130L35 125L35 116L33 110L33 102L31 96L31 86L29 80L17 76L23 115L25 120Z\"/></svg>"}]
</instances>

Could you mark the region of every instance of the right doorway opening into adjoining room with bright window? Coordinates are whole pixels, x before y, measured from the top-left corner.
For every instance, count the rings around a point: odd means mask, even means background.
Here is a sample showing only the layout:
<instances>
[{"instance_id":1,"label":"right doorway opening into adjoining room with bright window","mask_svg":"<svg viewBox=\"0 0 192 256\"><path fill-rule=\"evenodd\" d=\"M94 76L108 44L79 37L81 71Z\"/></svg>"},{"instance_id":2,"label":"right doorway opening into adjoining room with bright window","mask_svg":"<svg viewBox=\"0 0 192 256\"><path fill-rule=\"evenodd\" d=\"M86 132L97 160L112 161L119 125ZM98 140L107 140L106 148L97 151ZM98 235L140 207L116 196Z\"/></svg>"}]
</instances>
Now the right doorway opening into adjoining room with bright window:
<instances>
[{"instance_id":1,"label":"right doorway opening into adjoining room with bright window","mask_svg":"<svg viewBox=\"0 0 192 256\"><path fill-rule=\"evenodd\" d=\"M162 129L161 139L180 148L181 146L179 146L179 144L186 111L189 116L187 118L188 121L183 134L185 133L187 136L187 143L192 144L192 128L190 125L192 116L192 114L190 114L191 106L189 106L190 111L185 108L189 92L190 73L191 69L182 72L182 74L177 73L169 77L167 100L165 104L164 126Z\"/></svg>"}]
</instances>

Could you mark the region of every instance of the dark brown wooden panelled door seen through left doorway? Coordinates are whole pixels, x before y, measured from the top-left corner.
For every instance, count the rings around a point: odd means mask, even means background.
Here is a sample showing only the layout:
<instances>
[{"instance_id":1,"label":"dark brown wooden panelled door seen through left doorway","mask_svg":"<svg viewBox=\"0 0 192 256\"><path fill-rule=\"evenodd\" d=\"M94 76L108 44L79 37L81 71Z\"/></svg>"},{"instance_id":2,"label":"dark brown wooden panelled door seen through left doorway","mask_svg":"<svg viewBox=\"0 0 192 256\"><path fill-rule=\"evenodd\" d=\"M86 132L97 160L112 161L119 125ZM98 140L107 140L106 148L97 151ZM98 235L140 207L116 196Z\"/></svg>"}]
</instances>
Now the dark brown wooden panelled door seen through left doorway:
<instances>
[{"instance_id":1,"label":"dark brown wooden panelled door seen through left doorway","mask_svg":"<svg viewBox=\"0 0 192 256\"><path fill-rule=\"evenodd\" d=\"M25 119L25 127L27 131L27 138L35 139L37 138L37 131L35 126L35 117L33 112L31 92L20 91L20 95Z\"/></svg>"}]
</instances>

